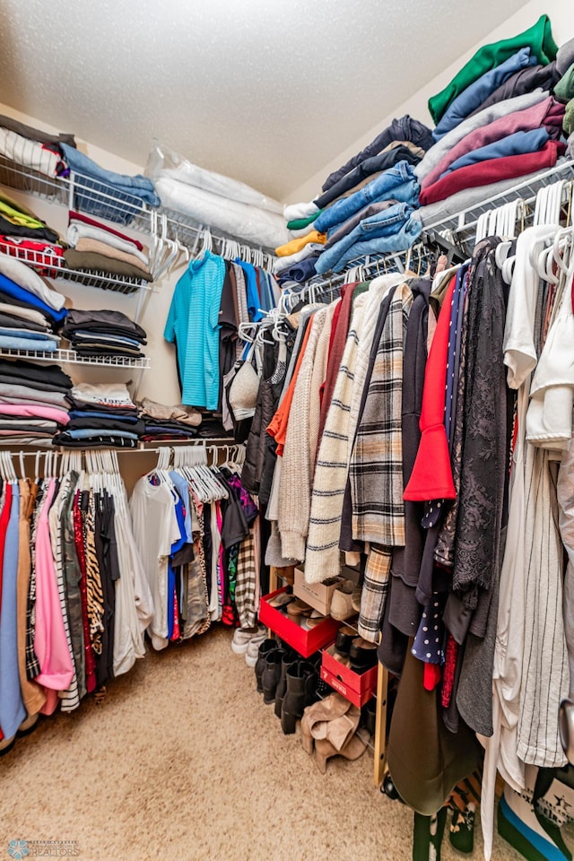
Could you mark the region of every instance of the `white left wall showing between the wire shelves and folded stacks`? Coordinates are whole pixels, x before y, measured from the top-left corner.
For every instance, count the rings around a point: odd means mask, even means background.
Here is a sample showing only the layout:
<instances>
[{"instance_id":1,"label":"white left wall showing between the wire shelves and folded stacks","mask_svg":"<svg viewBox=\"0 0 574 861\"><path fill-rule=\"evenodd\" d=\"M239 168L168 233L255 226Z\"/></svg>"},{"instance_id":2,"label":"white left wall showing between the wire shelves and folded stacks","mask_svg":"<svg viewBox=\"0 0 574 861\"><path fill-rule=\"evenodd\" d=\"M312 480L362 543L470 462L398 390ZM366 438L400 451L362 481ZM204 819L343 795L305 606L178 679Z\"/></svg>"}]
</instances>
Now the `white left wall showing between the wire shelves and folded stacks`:
<instances>
[{"instance_id":1,"label":"white left wall showing between the wire shelves and folded stacks","mask_svg":"<svg viewBox=\"0 0 574 861\"><path fill-rule=\"evenodd\" d=\"M34 117L27 117L25 114L5 105L0 105L0 113L14 117L34 128L40 128L56 134L60 131L74 131L74 129L57 129L53 126L48 126ZM77 141L77 143L79 149L108 170L116 170L118 173L129 175L143 171L142 165L133 164L89 143L82 141ZM8 191L11 196L25 203L33 213L36 213L51 228L57 230L61 236L65 237L67 228L67 210L65 206L51 204L42 198L24 195L14 190L8 189ZM146 238L143 234L137 234L128 228L124 229L120 227L120 230L126 230L127 233L137 236L145 244L149 241L149 238ZM139 375L142 374L138 397L151 397L153 400L161 402L161 404L178 404L180 402L175 350L170 344L164 341L163 326L170 308L173 288L183 271L184 267L182 264L167 278L154 284L152 294L146 304L145 312L140 319L140 324L148 335L148 344L143 348L143 352L151 359L151 369L142 372L137 369L107 369L87 365L65 366L66 373L72 377L74 382L81 380L105 382L112 378L121 378L127 382L129 379L139 378ZM114 309L123 311L128 317L133 318L135 316L136 294L125 296L113 291L83 287L81 284L64 280L57 280L52 283L57 291L64 293L69 298L69 301L66 302L66 305L69 307L79 309Z\"/></svg>"}]
</instances>

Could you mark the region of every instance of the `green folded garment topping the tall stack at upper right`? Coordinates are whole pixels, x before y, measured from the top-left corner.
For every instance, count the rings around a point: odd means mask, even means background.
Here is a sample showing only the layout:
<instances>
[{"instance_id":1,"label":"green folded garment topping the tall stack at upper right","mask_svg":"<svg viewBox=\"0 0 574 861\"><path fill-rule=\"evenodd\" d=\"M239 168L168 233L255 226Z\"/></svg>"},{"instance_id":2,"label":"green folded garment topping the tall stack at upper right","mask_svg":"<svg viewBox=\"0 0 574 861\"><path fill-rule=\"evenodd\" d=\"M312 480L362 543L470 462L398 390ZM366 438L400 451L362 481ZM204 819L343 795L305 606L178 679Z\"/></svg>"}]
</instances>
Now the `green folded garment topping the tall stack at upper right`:
<instances>
[{"instance_id":1,"label":"green folded garment topping the tall stack at upper right","mask_svg":"<svg viewBox=\"0 0 574 861\"><path fill-rule=\"evenodd\" d=\"M551 63L556 57L558 46L552 39L552 26L548 15L541 15L532 27L512 39L501 39L500 42L492 42L491 45L483 45L483 48L479 48L445 89L429 99L429 110L435 123L439 123L440 117L450 102L456 99L466 87L485 72L504 63L520 48L527 47L542 65Z\"/></svg>"}]
</instances>

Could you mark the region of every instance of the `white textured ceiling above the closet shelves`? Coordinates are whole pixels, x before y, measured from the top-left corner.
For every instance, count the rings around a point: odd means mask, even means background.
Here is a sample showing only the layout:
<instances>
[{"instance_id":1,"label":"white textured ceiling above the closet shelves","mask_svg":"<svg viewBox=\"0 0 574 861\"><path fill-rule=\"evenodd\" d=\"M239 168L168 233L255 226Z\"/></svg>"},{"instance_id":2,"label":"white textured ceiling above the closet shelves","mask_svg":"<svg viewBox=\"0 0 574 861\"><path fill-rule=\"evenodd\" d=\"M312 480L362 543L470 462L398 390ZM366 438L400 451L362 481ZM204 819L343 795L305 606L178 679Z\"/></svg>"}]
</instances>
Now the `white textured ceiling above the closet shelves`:
<instances>
[{"instance_id":1,"label":"white textured ceiling above the closet shelves","mask_svg":"<svg viewBox=\"0 0 574 861\"><path fill-rule=\"evenodd\" d=\"M281 200L521 5L2 0L0 101L136 164L158 137Z\"/></svg>"}]
</instances>

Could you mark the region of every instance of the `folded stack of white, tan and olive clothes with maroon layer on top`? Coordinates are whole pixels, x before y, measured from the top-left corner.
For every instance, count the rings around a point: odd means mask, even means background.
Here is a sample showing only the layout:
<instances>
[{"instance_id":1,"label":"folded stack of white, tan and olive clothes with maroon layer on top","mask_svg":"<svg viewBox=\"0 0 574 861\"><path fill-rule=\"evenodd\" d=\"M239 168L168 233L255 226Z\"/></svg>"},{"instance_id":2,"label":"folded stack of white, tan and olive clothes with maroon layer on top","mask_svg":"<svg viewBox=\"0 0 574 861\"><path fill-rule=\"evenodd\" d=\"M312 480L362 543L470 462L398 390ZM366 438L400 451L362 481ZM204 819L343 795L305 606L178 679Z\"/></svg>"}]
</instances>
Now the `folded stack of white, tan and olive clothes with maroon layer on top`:
<instances>
[{"instance_id":1,"label":"folded stack of white, tan and olive clothes with maroon layer on top","mask_svg":"<svg viewBox=\"0 0 574 861\"><path fill-rule=\"evenodd\" d=\"M97 269L141 281L153 281L150 254L138 239L97 222L83 213L71 212L68 222L65 265L69 269Z\"/></svg>"}]
</instances>

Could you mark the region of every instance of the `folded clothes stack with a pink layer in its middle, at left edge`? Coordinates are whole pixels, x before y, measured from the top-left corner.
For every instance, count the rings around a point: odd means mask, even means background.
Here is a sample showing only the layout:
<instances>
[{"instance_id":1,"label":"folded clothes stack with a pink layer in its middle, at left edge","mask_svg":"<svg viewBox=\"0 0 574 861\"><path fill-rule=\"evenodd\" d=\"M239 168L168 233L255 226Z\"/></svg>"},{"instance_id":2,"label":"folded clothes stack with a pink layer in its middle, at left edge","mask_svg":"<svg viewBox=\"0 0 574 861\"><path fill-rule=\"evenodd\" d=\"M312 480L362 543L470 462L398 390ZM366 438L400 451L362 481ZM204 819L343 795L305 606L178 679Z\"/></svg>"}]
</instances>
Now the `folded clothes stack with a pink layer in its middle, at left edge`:
<instances>
[{"instance_id":1,"label":"folded clothes stack with a pink layer in its middle, at left edge","mask_svg":"<svg viewBox=\"0 0 574 861\"><path fill-rule=\"evenodd\" d=\"M57 365L0 359L0 439L49 445L69 422L72 380Z\"/></svg>"}]
</instances>

